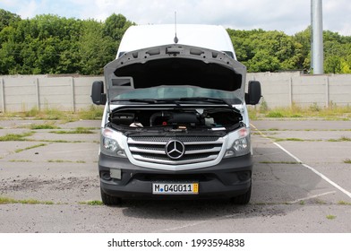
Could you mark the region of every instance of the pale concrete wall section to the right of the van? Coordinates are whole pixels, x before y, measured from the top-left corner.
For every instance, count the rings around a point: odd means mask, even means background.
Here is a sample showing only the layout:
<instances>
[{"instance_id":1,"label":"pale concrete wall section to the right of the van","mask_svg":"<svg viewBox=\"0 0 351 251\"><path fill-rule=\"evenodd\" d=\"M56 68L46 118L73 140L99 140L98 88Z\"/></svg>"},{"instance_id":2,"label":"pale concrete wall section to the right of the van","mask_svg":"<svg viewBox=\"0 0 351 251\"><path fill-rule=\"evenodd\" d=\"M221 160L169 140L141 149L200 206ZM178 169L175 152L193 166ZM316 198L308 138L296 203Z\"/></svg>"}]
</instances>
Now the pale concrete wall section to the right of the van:
<instances>
[{"instance_id":1,"label":"pale concrete wall section to the right of the van","mask_svg":"<svg viewBox=\"0 0 351 251\"><path fill-rule=\"evenodd\" d=\"M304 75L300 73L247 74L247 81L261 82L269 108L318 105L351 105L351 74Z\"/></svg>"}]
</instances>

